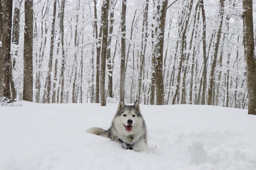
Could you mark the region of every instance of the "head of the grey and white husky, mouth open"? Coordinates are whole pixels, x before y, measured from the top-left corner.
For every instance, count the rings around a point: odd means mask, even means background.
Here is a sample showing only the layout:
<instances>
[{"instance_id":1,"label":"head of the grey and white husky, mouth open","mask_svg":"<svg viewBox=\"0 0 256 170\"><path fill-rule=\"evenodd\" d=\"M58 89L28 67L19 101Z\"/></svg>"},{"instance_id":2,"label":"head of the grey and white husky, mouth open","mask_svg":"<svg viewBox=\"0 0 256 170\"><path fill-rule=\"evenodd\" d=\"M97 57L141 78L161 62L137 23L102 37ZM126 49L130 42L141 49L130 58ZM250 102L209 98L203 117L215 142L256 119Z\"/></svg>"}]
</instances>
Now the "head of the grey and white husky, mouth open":
<instances>
[{"instance_id":1,"label":"head of the grey and white husky, mouth open","mask_svg":"<svg viewBox=\"0 0 256 170\"><path fill-rule=\"evenodd\" d=\"M115 127L122 130L125 134L131 135L143 126L143 118L140 113L140 104L136 100L134 105L125 105L121 100L117 107L115 115Z\"/></svg>"}]
</instances>

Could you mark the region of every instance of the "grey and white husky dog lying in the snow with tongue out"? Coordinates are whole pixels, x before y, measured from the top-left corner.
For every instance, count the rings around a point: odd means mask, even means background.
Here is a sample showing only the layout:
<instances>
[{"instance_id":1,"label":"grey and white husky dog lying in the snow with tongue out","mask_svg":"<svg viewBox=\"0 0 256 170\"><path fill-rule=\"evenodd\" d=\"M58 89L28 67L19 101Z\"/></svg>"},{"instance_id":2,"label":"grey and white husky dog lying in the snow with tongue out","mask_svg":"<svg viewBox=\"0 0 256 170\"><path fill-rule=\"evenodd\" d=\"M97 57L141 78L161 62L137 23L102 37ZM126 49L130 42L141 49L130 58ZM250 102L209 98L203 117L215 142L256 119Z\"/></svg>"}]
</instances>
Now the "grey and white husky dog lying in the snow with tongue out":
<instances>
[{"instance_id":1,"label":"grey and white husky dog lying in the snow with tongue out","mask_svg":"<svg viewBox=\"0 0 256 170\"><path fill-rule=\"evenodd\" d=\"M138 100L133 106L124 104L121 100L114 115L112 125L108 130L90 128L86 131L122 144L123 148L136 152L149 151L145 121L140 113Z\"/></svg>"}]
</instances>

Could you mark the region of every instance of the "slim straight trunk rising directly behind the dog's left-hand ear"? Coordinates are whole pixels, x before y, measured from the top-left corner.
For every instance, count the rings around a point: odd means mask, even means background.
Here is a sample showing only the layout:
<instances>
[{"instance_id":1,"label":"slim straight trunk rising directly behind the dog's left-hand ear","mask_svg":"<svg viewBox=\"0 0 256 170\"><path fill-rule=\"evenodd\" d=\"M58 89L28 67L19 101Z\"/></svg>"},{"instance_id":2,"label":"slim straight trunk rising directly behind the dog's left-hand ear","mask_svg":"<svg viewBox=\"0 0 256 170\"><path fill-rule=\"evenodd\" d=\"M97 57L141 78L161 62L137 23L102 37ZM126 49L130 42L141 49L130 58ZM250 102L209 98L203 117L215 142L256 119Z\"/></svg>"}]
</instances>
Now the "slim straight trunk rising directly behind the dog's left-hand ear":
<instances>
[{"instance_id":1,"label":"slim straight trunk rising directly behind the dog's left-hand ear","mask_svg":"<svg viewBox=\"0 0 256 170\"><path fill-rule=\"evenodd\" d=\"M125 90L125 32L126 32L126 25L125 25L125 17L126 15L126 0L122 0L122 14L121 14L121 65L120 65L120 100L124 100Z\"/></svg>"}]
</instances>

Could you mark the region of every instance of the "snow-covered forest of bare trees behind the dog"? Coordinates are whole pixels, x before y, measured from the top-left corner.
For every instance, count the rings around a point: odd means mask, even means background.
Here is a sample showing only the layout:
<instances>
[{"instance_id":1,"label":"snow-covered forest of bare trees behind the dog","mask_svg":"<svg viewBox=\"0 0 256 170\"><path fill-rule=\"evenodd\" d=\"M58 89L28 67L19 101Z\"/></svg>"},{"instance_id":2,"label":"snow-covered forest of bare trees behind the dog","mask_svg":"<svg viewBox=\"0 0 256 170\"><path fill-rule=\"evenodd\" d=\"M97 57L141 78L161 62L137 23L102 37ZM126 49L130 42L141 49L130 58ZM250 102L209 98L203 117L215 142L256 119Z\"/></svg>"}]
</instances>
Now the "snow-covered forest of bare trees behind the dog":
<instances>
[{"instance_id":1,"label":"snow-covered forest of bare trees behind the dog","mask_svg":"<svg viewBox=\"0 0 256 170\"><path fill-rule=\"evenodd\" d=\"M248 109L246 3L256 28L252 0L0 0L0 97Z\"/></svg>"}]
</instances>

